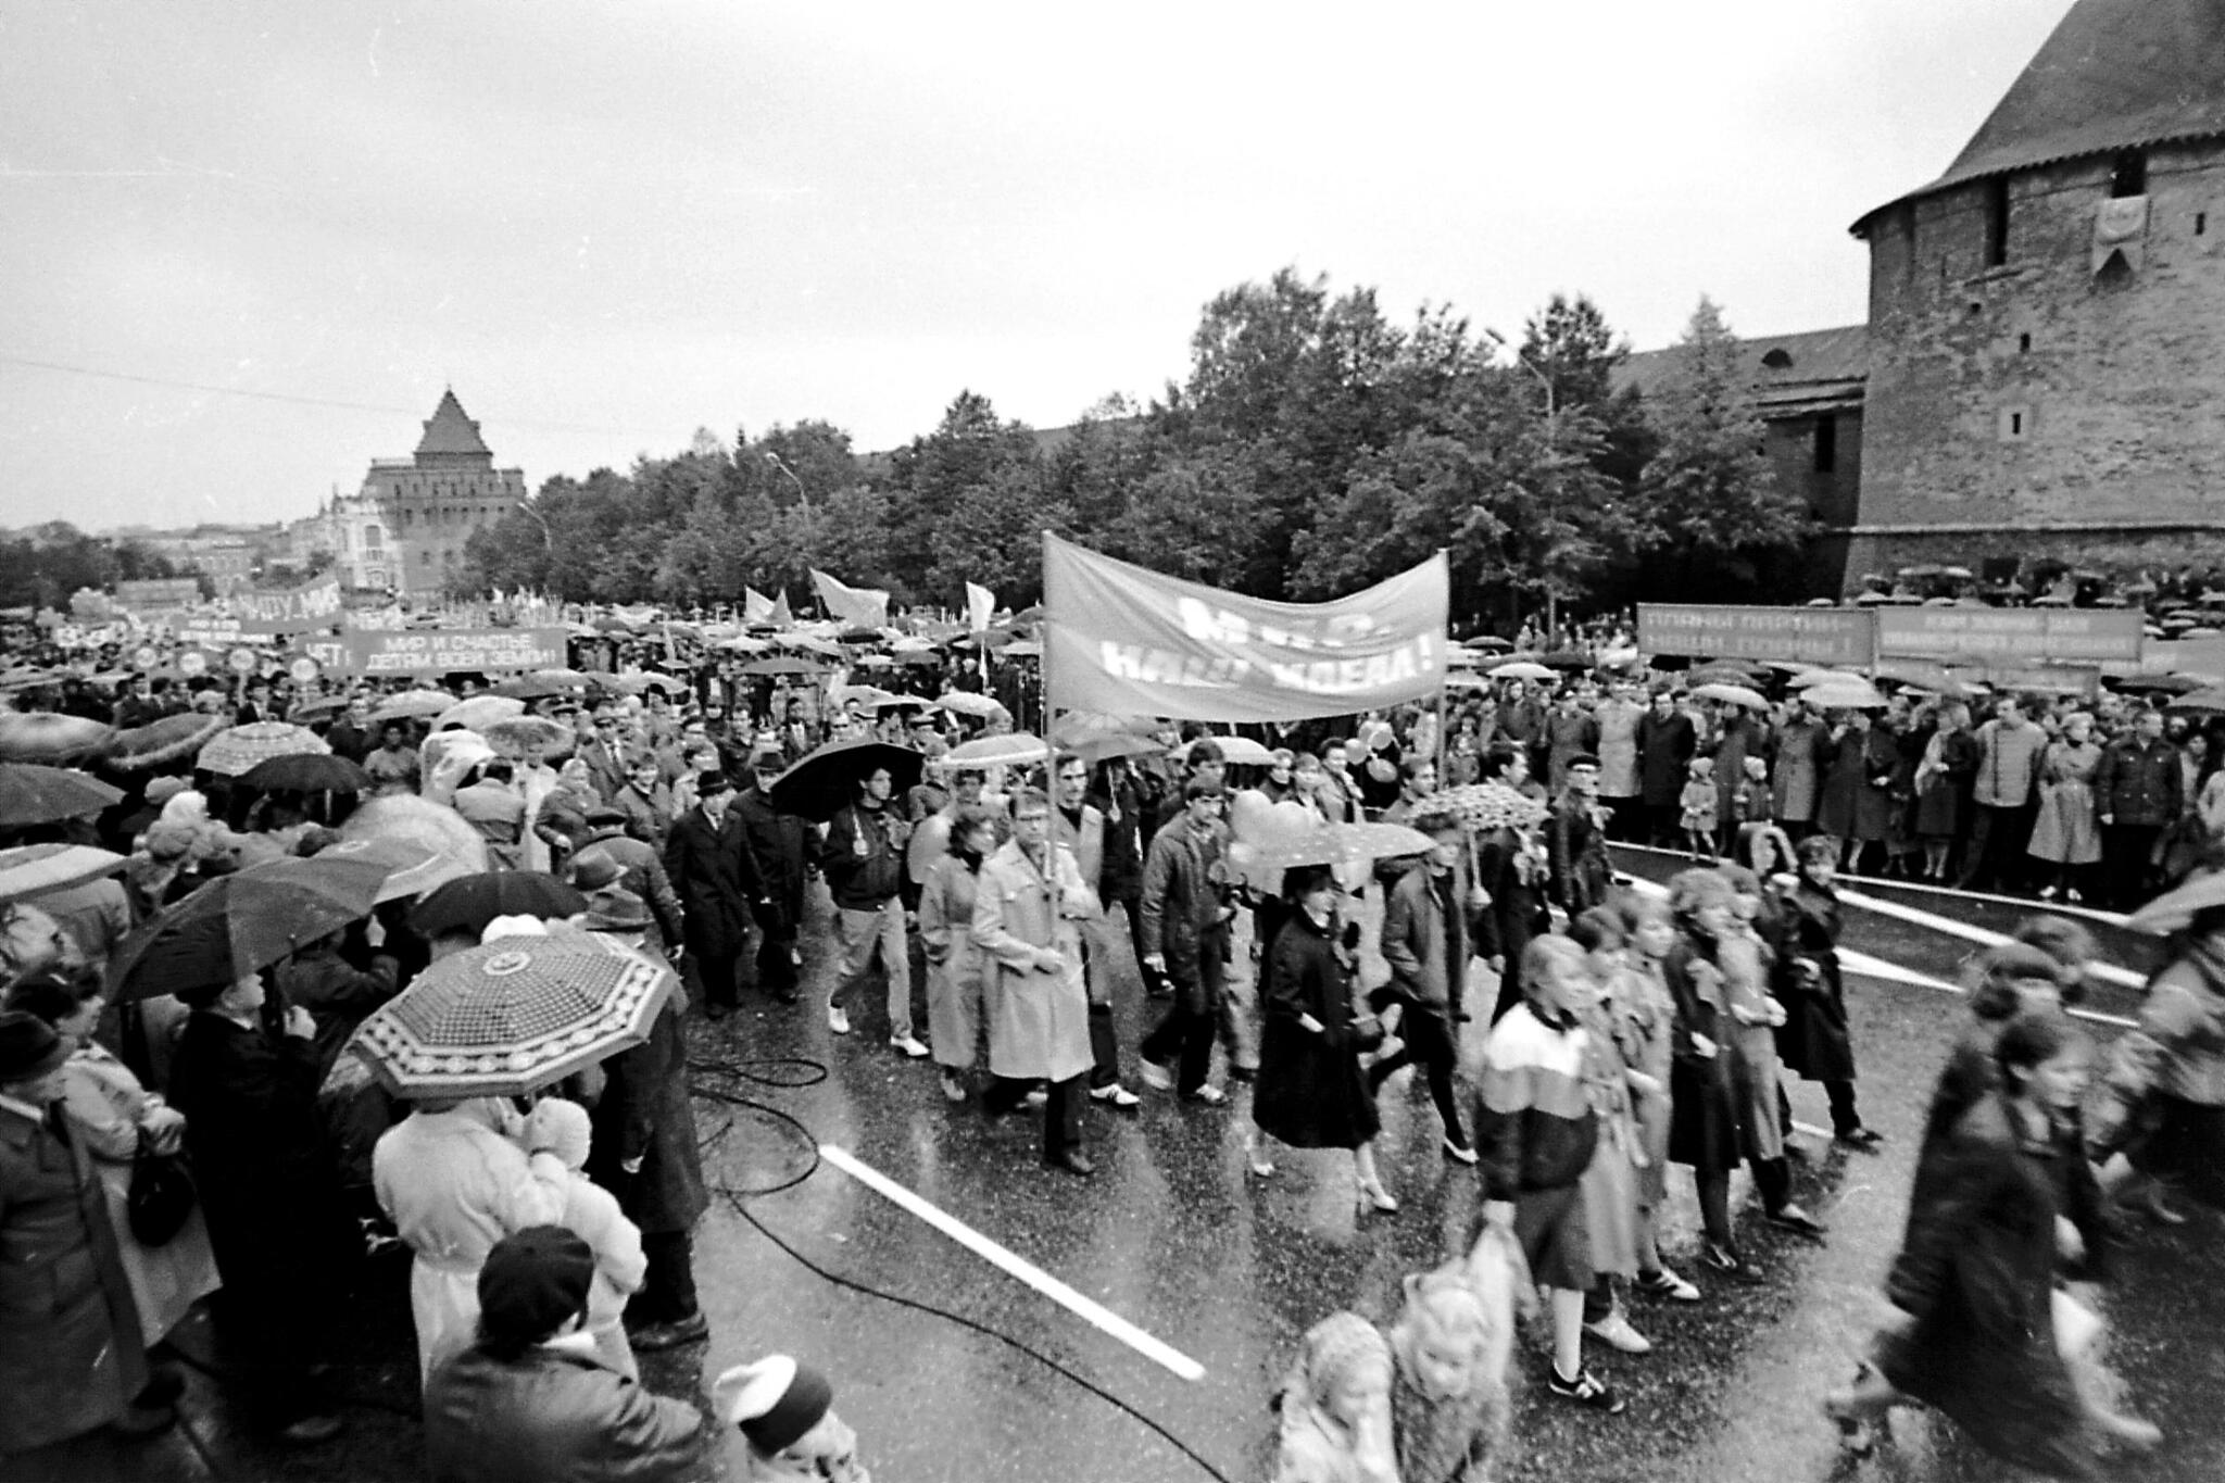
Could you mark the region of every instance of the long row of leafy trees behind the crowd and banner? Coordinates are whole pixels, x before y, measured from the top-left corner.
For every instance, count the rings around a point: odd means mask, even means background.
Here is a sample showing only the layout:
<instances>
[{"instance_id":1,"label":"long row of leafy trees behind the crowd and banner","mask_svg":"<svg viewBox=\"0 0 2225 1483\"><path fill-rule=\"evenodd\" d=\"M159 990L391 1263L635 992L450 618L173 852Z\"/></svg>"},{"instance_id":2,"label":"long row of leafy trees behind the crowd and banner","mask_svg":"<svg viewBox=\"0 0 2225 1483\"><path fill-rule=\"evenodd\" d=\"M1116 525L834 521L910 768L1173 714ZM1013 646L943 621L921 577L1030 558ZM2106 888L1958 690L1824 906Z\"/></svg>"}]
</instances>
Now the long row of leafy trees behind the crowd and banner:
<instances>
[{"instance_id":1,"label":"long row of leafy trees behind the crowd and banner","mask_svg":"<svg viewBox=\"0 0 2225 1483\"><path fill-rule=\"evenodd\" d=\"M808 569L961 607L1041 596L1039 531L1264 598L1351 591L1444 547L1453 611L1506 620L1646 596L1784 596L1809 514L1778 489L1738 342L1700 300L1651 398L1589 298L1513 347L1446 307L1406 325L1373 289L1284 269L1213 298L1190 369L1037 434L961 391L934 431L859 456L819 420L701 431L625 474L550 478L476 531L472 589L594 603L805 596Z\"/></svg>"}]
</instances>

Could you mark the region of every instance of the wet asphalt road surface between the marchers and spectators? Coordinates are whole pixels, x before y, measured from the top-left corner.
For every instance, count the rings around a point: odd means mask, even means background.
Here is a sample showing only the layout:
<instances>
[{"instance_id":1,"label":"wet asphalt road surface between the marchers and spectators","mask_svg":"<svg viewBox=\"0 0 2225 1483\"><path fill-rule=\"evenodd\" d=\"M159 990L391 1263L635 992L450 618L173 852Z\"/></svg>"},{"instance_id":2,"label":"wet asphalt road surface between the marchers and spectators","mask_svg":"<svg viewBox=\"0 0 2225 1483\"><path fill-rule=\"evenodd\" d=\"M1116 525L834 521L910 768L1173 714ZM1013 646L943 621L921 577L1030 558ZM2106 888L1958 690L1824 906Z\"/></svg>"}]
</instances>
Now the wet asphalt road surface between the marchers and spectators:
<instances>
[{"instance_id":1,"label":"wet asphalt road surface between the marchers and spectators","mask_svg":"<svg viewBox=\"0 0 2225 1483\"><path fill-rule=\"evenodd\" d=\"M1675 869L1646 854L1624 865L1649 878ZM1991 929L2018 918L2014 907L1862 889ZM2120 963L2149 952L2145 938L2114 929L2103 929L2103 940ZM1847 945L1936 978L1954 978L1978 952L1867 912L1851 914ZM823 992L823 949L808 952L810 985ZM1124 985L1117 1001L1130 1054L1124 1069L1137 1085L1133 1045L1157 1005L1146 1005L1135 985ZM1798 1194L1831 1227L1829 1243L1778 1236L1758 1207L1742 1205L1742 1236L1769 1283L1709 1283L1693 1261L1691 1183L1675 1172L1669 1261L1702 1285L1704 1301L1642 1303L1633 1312L1658 1345L1651 1356L1586 1356L1629 1394L1631 1410L1620 1419L1573 1412L1546 1396L1542 1350L1524 1343L1517 1454L1500 1476L2007 1476L1947 1423L1916 1412L1896 1412L1891 1445L1851 1463L1818 1410L1822 1392L1851 1372L1880 1312L1878 1281L1898 1245L1922 1105L1962 1014L1949 994L1873 978L1853 978L1851 1001L1862 1109L1887 1145L1849 1156L1813 1134L1800 1138L1813 1158L1796 1165ZM1442 1261L1471 1227L1475 1174L1440 1156L1435 1114L1411 1074L1384 1089L1380 1145L1386 1183L1404 1210L1362 1216L1351 1165L1337 1154L1277 1149L1277 1176L1246 1181L1242 1096L1226 1112L1179 1107L1153 1092L1144 1092L1139 1114L1092 1105L1097 1178L1044 1170L1032 1114L990 1121L975 1105L946 1105L932 1063L886 1047L877 1005L852 1005L857 1034L837 1041L817 1003L752 998L723 1025L692 1029L696 1085L705 1092L705 1172L732 1198L719 1198L696 1234L696 1276L712 1318L708 1352L647 1356L645 1379L690 1394L699 1379L708 1383L721 1367L770 1350L810 1356L834 1376L837 1405L859 1430L861 1461L881 1483L1264 1476L1273 1436L1266 1399L1295 1338L1335 1307L1386 1318L1400 1278ZM2129 1016L2136 994L2105 989L2092 1007ZM1482 1027L1468 1029L1473 1052ZM2094 1029L2100 1041L2118 1034ZM785 1116L736 1105L734 1096ZM1793 1116L1827 1125L1820 1092L1796 1085ZM814 1143L852 1152L1193 1356L1204 1379L1173 1376L997 1272L819 1163ZM750 1194L777 1185L792 1187ZM2160 1454L2116 1467L2125 1483L2225 1479L2225 1350L2216 1343L2225 1327L2225 1254L2216 1232L2218 1218L2205 1216L2178 1232L2143 1230L2123 1252L2109 1296L2116 1361L2134 1407L2169 1436ZM96 1447L73 1459L73 1474L423 1476L403 1294L403 1265L389 1263L349 1316L347 1354L334 1376L354 1401L343 1443L269 1452L231 1425L220 1394L196 1376L182 1432L129 1450ZM198 1325L189 1325L185 1350L220 1361ZM739 1476L739 1465L710 1459L701 1476Z\"/></svg>"}]
</instances>

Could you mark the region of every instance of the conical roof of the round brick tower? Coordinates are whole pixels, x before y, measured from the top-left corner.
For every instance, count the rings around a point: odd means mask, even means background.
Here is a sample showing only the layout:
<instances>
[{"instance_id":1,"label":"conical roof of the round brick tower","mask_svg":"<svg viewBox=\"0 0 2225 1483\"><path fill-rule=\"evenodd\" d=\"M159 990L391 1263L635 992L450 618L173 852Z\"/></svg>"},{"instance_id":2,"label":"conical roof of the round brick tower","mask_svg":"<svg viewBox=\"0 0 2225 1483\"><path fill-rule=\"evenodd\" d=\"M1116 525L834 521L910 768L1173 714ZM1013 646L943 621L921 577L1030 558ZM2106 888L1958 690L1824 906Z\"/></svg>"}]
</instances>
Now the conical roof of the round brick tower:
<instances>
[{"instance_id":1,"label":"conical roof of the round brick tower","mask_svg":"<svg viewBox=\"0 0 2225 1483\"><path fill-rule=\"evenodd\" d=\"M2225 136L2225 0L2078 0L1927 187L1878 211L2034 165Z\"/></svg>"}]
</instances>

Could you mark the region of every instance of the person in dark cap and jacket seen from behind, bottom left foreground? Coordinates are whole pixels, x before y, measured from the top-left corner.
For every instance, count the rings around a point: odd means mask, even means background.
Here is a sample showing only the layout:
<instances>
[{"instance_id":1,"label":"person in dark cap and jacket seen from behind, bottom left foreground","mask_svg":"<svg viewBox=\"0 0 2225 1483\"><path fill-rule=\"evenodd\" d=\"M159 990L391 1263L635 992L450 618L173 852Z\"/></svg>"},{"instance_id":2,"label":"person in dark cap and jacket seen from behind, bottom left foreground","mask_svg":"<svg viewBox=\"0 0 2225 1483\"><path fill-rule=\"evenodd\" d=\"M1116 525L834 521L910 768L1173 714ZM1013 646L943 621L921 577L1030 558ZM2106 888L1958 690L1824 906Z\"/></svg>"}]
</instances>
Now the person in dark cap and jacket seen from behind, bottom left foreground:
<instances>
[{"instance_id":1,"label":"person in dark cap and jacket seen from behind, bottom left foreground","mask_svg":"<svg viewBox=\"0 0 2225 1483\"><path fill-rule=\"evenodd\" d=\"M603 1365L585 1330L594 1250L561 1225L503 1236L478 1270L478 1343L425 1385L436 1483L659 1483L703 1416Z\"/></svg>"}]
</instances>

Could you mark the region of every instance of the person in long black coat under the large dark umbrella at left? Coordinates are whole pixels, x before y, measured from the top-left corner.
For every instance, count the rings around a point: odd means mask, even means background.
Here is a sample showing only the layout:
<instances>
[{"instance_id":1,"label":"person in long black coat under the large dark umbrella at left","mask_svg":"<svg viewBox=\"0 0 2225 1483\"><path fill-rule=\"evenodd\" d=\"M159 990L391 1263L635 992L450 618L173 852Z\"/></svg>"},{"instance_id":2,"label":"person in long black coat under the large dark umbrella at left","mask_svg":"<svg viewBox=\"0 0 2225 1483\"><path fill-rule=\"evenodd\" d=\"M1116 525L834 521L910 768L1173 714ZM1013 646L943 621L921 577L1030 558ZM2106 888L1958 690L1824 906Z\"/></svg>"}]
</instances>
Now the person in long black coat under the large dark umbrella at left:
<instances>
[{"instance_id":1,"label":"person in long black coat under the large dark umbrella at left","mask_svg":"<svg viewBox=\"0 0 2225 1483\"><path fill-rule=\"evenodd\" d=\"M363 1241L316 1112L316 1021L294 1005L285 1034L271 1036L258 1018L263 998L256 976L191 992L169 1101L185 1114L225 1278L218 1316L238 1338L229 1363L251 1383L265 1425L312 1443L340 1430L318 1405L309 1365Z\"/></svg>"}]
</instances>

